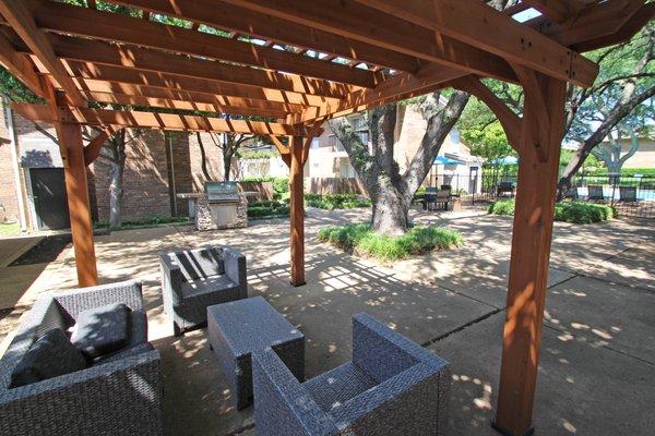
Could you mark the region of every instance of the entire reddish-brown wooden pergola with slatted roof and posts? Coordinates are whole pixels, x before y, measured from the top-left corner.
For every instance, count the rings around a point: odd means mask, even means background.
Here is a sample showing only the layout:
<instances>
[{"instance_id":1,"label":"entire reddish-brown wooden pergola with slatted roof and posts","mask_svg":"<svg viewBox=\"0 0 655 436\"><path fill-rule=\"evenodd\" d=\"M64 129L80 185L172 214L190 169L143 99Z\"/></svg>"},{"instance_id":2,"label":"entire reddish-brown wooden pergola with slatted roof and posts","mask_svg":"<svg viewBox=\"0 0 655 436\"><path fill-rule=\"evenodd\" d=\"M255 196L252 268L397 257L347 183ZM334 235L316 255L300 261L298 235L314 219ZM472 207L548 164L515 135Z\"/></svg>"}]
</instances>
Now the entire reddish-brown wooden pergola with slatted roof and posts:
<instances>
[{"instance_id":1,"label":"entire reddish-brown wooden pergola with slatted roof and posts","mask_svg":"<svg viewBox=\"0 0 655 436\"><path fill-rule=\"evenodd\" d=\"M320 125L441 88L463 89L498 116L521 157L495 426L529 433L567 84L590 86L598 66L580 52L630 39L655 3L524 0L499 12L480 0L109 2L138 16L100 11L95 0L88 8L0 0L0 62L47 102L13 109L57 129L80 284L97 283L86 166L117 130L270 135L290 168L291 283L299 286L302 168ZM527 10L538 13L522 22ZM179 25L163 24L162 16L180 19ZM523 87L522 117L484 77ZM85 124L103 132L86 146Z\"/></svg>"}]
</instances>

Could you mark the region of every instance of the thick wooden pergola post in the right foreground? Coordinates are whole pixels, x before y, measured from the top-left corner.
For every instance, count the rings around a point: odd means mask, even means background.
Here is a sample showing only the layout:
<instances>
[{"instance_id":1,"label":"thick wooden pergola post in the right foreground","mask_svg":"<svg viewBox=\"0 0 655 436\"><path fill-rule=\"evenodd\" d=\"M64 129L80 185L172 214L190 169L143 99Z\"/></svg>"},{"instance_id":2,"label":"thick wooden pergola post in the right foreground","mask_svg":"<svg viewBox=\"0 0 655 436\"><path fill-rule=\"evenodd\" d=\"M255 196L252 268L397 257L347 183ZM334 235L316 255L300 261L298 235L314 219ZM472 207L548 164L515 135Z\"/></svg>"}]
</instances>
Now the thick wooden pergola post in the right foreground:
<instances>
[{"instance_id":1,"label":"thick wooden pergola post in the right foreground","mask_svg":"<svg viewBox=\"0 0 655 436\"><path fill-rule=\"evenodd\" d=\"M519 181L496 429L533 433L548 263L555 214L565 83L533 71L517 73L525 90ZM547 114L548 117L545 117ZM546 122L546 129L539 123Z\"/></svg>"}]
</instances>

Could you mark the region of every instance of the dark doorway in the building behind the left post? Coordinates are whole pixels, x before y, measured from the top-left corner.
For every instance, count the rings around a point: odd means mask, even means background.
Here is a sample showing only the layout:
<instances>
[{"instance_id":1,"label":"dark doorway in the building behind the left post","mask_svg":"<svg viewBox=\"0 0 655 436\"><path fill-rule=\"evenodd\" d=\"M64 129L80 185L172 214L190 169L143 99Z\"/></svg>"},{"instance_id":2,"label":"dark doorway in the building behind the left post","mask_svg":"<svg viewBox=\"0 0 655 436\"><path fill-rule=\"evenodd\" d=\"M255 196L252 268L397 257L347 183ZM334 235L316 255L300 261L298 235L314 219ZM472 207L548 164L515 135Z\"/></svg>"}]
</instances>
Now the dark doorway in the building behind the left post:
<instances>
[{"instance_id":1,"label":"dark doorway in the building behind the left post","mask_svg":"<svg viewBox=\"0 0 655 436\"><path fill-rule=\"evenodd\" d=\"M63 168L31 168L29 181L38 228L70 227Z\"/></svg>"}]
</instances>

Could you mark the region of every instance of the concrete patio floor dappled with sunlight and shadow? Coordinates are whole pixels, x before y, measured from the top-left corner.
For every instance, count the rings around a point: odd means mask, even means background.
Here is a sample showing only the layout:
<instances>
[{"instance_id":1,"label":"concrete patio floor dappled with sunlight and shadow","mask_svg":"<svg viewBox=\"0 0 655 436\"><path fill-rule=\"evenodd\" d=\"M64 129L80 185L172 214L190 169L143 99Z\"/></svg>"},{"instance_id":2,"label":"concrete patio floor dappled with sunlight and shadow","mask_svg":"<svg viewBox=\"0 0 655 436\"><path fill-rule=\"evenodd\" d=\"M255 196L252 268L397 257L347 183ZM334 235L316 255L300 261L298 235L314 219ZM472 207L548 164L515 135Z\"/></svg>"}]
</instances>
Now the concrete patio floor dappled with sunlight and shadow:
<instances>
[{"instance_id":1,"label":"concrete patio floor dappled with sunlight and shadow","mask_svg":"<svg viewBox=\"0 0 655 436\"><path fill-rule=\"evenodd\" d=\"M251 435L252 408L237 412L205 330L181 338L162 313L159 252L230 244L248 257L250 295L263 295L306 335L306 373L349 359L350 317L365 311L452 363L453 435L493 435L512 220L426 215L457 229L462 249L393 265L348 256L317 241L323 226L366 210L311 209L307 282L288 284L288 221L196 232L162 227L96 238L103 282L144 282L150 337L160 351L169 435ZM651 434L655 416L655 227L615 220L556 223L534 422L540 435ZM72 253L49 264L0 322L0 334L44 291L74 288ZM3 341L5 344L8 338Z\"/></svg>"}]
</instances>

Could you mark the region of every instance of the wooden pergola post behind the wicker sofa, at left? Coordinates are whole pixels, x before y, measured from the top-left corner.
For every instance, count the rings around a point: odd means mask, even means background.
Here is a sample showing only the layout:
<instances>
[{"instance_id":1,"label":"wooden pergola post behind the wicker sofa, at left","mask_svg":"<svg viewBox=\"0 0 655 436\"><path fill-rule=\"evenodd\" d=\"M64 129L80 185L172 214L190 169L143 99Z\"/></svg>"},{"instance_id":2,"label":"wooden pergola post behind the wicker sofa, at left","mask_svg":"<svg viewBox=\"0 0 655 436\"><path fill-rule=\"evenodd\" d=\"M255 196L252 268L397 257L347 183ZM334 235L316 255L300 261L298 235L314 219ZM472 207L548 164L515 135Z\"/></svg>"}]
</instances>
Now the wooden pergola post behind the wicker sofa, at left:
<instances>
[{"instance_id":1,"label":"wooden pergola post behind the wicker sofa, at left","mask_svg":"<svg viewBox=\"0 0 655 436\"><path fill-rule=\"evenodd\" d=\"M71 217L71 233L75 250L78 283L81 287L98 284L93 222L88 205L86 164L82 143L82 126L78 123L58 123L59 143L68 152L66 167L66 193Z\"/></svg>"}]
</instances>

